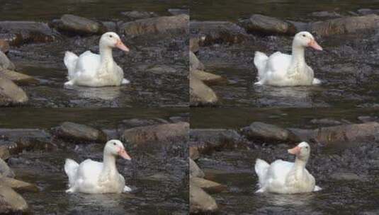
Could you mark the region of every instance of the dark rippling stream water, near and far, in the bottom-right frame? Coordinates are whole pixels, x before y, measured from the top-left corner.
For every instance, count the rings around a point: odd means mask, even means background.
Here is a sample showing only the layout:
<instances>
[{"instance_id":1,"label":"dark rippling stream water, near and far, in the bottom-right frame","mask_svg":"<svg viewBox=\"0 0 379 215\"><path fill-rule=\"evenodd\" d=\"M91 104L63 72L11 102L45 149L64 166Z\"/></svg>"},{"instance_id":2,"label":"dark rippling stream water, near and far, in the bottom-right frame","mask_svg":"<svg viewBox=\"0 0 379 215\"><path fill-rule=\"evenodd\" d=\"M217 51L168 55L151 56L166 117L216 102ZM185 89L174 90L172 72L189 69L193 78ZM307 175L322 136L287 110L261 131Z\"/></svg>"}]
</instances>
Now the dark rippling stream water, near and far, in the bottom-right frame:
<instances>
[{"instance_id":1,"label":"dark rippling stream water, near and far, in the bottom-right frame","mask_svg":"<svg viewBox=\"0 0 379 215\"><path fill-rule=\"evenodd\" d=\"M344 123L360 122L357 117L378 117L368 108L205 108L191 110L192 128L239 129L251 122L281 127L314 129L313 119L328 118ZM227 185L225 192L211 194L220 214L378 214L379 142L356 142L339 146L311 144L307 170L315 176L320 192L309 194L256 194L256 158L269 163L294 160L287 153L293 145L274 141L237 143L235 149L217 149L200 156L197 163L205 178ZM333 173L353 173L360 180L336 180Z\"/></svg>"}]
</instances>

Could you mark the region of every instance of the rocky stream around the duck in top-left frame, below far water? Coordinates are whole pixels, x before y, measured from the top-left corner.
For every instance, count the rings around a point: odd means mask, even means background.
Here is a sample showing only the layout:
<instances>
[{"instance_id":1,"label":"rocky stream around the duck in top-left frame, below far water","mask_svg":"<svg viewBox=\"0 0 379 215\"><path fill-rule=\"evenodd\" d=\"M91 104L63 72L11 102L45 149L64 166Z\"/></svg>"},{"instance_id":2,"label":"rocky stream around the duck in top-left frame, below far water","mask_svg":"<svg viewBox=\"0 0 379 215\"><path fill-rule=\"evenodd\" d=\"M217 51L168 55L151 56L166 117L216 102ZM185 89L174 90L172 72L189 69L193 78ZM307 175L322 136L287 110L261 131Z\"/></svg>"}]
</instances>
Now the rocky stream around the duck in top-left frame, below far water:
<instances>
[{"instance_id":1,"label":"rocky stream around the duck in top-left frame, below far water","mask_svg":"<svg viewBox=\"0 0 379 215\"><path fill-rule=\"evenodd\" d=\"M4 100L0 105L186 106L189 16L186 10L169 11L165 16L124 11L118 18L104 20L64 14L46 22L0 21L0 81L11 79L21 86L3 83L7 87L0 92ZM113 56L131 83L120 87L65 88L64 52L98 53L98 39L106 31L118 33L130 47L127 54L114 50ZM10 93L15 88L19 93Z\"/></svg>"}]
</instances>

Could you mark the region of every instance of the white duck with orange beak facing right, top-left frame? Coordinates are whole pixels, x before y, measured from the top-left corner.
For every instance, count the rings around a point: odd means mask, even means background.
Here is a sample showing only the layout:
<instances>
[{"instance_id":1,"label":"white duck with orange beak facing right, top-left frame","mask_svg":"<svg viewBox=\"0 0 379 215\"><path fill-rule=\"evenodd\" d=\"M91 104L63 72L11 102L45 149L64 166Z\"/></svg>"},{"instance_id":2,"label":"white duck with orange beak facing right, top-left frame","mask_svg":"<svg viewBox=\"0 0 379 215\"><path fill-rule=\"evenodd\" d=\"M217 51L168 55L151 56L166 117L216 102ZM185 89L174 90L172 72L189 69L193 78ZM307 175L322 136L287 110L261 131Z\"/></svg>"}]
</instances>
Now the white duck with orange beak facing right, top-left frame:
<instances>
[{"instance_id":1,"label":"white duck with orange beak facing right, top-left frame","mask_svg":"<svg viewBox=\"0 0 379 215\"><path fill-rule=\"evenodd\" d=\"M67 67L67 79L69 79L64 83L65 86L100 87L130 83L124 79L123 69L113 61L112 49L114 47L129 52L120 37L113 32L104 33L98 47L100 54L94 54L91 51L86 51L79 57L68 51L64 54L64 65Z\"/></svg>"}]
</instances>

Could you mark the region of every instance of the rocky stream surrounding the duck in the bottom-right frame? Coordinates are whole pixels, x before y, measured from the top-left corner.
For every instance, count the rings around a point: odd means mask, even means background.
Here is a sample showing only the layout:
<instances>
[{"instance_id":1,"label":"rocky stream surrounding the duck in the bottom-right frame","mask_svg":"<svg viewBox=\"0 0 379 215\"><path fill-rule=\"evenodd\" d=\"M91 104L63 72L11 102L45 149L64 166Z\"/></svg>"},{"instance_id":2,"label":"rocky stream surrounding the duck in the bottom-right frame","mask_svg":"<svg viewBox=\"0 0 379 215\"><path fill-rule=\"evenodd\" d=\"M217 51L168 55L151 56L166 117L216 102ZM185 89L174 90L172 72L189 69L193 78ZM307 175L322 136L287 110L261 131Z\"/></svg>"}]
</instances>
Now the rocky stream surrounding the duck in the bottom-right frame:
<instances>
[{"instance_id":1,"label":"rocky stream surrounding the duck in the bottom-right frame","mask_svg":"<svg viewBox=\"0 0 379 215\"><path fill-rule=\"evenodd\" d=\"M268 120L259 122L262 119ZM377 193L373 192L379 176L378 126L378 115L366 109L344 114L321 109L317 117L312 117L308 108L194 110L190 193L193 199L207 200L200 201L202 204L191 201L193 213L378 213ZM256 194L256 158L269 163L276 159L293 161L287 149L304 140L312 149L307 170L322 190L295 195ZM198 182L198 178L206 183Z\"/></svg>"}]
</instances>

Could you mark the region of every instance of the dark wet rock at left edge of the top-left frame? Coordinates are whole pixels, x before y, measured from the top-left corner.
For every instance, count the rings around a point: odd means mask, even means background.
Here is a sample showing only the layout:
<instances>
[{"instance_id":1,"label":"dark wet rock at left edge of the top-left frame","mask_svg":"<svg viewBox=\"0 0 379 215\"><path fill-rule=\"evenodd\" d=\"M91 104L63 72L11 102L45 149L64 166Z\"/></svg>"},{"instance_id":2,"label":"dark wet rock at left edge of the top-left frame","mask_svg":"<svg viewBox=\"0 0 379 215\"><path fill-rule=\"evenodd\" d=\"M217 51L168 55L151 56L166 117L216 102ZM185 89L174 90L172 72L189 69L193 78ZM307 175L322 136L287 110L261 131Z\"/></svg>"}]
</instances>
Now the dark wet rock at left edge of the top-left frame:
<instances>
[{"instance_id":1,"label":"dark wet rock at left edge of the top-left frame","mask_svg":"<svg viewBox=\"0 0 379 215\"><path fill-rule=\"evenodd\" d=\"M55 32L46 23L34 21L0 21L1 34L14 34L13 42L52 42L55 40Z\"/></svg>"}]
</instances>

